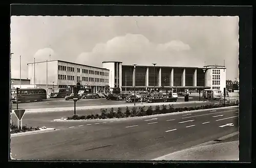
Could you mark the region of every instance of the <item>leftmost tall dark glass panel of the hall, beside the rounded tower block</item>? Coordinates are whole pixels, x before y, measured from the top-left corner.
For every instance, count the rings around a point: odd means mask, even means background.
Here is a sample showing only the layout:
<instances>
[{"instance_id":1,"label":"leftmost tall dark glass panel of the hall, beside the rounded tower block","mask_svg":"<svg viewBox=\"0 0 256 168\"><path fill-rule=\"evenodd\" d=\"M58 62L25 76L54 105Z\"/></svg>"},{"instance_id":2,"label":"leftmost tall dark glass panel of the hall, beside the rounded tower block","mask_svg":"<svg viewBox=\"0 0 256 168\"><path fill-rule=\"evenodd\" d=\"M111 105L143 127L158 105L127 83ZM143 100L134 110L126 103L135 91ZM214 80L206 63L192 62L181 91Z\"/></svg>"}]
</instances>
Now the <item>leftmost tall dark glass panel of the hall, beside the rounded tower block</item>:
<instances>
[{"instance_id":1,"label":"leftmost tall dark glass panel of the hall, beside the rounded tower block","mask_svg":"<svg viewBox=\"0 0 256 168\"><path fill-rule=\"evenodd\" d=\"M122 86L133 86L133 67L122 66Z\"/></svg>"}]
</instances>

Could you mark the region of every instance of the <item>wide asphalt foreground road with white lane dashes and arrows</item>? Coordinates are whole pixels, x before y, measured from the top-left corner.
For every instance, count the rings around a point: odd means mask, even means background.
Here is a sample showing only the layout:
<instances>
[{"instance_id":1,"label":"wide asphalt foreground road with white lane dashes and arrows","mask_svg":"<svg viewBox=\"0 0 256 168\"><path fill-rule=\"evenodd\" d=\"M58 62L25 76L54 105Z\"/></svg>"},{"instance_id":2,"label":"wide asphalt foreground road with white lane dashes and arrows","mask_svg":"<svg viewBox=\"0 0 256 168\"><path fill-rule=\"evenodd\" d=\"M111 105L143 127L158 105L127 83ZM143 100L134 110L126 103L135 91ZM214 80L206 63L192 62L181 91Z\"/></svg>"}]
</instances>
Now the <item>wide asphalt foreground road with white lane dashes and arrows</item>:
<instances>
[{"instance_id":1,"label":"wide asphalt foreground road with white lane dashes and arrows","mask_svg":"<svg viewBox=\"0 0 256 168\"><path fill-rule=\"evenodd\" d=\"M15 159L150 160L238 131L238 114L238 108L228 108L69 123L53 132L11 137L11 153Z\"/></svg>"}]
</instances>

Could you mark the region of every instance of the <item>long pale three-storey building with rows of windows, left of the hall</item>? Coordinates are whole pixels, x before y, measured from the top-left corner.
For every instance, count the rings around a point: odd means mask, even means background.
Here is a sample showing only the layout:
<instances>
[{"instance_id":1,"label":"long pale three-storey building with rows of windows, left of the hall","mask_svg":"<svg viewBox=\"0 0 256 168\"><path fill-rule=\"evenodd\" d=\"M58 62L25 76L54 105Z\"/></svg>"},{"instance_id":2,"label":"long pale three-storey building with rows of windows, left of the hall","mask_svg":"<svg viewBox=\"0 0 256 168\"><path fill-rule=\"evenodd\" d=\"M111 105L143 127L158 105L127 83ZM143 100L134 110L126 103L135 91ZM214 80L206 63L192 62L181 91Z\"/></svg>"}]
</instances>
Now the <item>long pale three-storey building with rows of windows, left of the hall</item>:
<instances>
[{"instance_id":1,"label":"long pale three-storey building with rows of windows, left of the hall","mask_svg":"<svg viewBox=\"0 0 256 168\"><path fill-rule=\"evenodd\" d=\"M28 63L28 78L31 85L51 91L58 88L73 88L78 82L93 92L104 92L109 85L109 70L89 65L54 60ZM48 92L49 93L49 92Z\"/></svg>"}]
</instances>

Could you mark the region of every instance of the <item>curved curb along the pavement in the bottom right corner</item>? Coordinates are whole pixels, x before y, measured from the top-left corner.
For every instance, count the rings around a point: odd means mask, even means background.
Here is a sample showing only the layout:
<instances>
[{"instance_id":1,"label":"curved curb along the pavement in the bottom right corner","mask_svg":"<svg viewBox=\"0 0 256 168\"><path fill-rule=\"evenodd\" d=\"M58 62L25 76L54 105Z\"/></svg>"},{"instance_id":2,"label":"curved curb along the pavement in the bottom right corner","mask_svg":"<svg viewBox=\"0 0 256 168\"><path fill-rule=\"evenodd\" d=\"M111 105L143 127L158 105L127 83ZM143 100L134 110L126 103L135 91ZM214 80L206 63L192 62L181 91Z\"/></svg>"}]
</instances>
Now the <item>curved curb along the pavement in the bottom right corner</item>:
<instances>
[{"instance_id":1,"label":"curved curb along the pavement in the bottom right corner","mask_svg":"<svg viewBox=\"0 0 256 168\"><path fill-rule=\"evenodd\" d=\"M236 131L236 132L233 132L233 133L230 133L230 134L227 134L225 136L222 136L222 137L219 137L217 139L223 141L229 137L232 137L232 136L235 136L235 135L238 135L239 134L239 131ZM190 148L186 148L186 149L183 149L183 150L180 150L180 151L177 151L177 152L173 152L173 153L169 153L167 155L163 155L163 156L160 156L160 157L157 157L157 158L154 158L154 159L151 159L151 160L163 160L161 158L165 158L167 156L170 156L170 155L174 155L174 154L177 154L177 153L180 153L180 152L183 152L183 151L186 151L186 150L191 150L191 149L196 149L198 147L203 147L203 146L207 146L207 145L214 145L214 144L220 144L216 141L209 141L209 142L206 142L206 143L203 143L203 144L199 144L199 145L196 145L196 146L193 146L193 147L190 147Z\"/></svg>"}]
</instances>

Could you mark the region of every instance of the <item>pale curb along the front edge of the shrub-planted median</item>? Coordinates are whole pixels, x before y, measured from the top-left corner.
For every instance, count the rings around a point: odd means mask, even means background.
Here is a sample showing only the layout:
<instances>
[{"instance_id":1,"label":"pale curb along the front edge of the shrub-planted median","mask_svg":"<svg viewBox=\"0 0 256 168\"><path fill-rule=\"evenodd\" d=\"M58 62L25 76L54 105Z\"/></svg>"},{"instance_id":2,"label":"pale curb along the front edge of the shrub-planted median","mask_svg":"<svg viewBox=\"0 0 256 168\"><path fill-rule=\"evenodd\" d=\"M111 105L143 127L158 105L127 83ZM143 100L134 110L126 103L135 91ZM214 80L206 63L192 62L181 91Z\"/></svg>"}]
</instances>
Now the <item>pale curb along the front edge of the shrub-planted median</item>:
<instances>
[{"instance_id":1,"label":"pale curb along the front edge of the shrub-planted median","mask_svg":"<svg viewBox=\"0 0 256 168\"><path fill-rule=\"evenodd\" d=\"M180 114L187 114L187 113L197 113L201 111L208 111L212 109L226 109L226 108L234 108L238 106L228 106L228 107L218 107L218 108L208 108L208 109L198 109L198 110L191 110L191 111L182 111L182 112L174 112L174 113L167 113L167 114L158 114L158 115L150 115L150 116L142 116L142 117L129 117L129 118L114 118L114 119L91 119L91 120L60 120L60 119L54 119L52 122L95 122L95 121L113 121L113 120L133 120L133 119L145 119L145 118L151 118L151 117L157 117L157 116L172 116L172 115L180 115Z\"/></svg>"}]
</instances>

